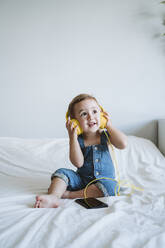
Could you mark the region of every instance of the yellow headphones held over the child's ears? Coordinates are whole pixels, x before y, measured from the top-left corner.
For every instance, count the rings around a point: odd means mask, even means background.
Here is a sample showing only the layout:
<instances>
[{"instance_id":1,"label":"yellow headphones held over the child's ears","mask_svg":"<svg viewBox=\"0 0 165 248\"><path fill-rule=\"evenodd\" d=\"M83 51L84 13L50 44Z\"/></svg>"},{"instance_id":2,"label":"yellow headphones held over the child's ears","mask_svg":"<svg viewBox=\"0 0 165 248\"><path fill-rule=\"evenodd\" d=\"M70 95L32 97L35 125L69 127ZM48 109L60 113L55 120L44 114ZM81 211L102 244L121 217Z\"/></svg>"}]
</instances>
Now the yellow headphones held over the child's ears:
<instances>
[{"instance_id":1,"label":"yellow headphones held over the child's ears","mask_svg":"<svg viewBox=\"0 0 165 248\"><path fill-rule=\"evenodd\" d=\"M104 129L106 127L106 124L107 124L107 119L104 117L104 113L103 113L104 112L104 109L103 109L103 107L101 107L100 105L99 105L99 107L101 109L101 112L100 112L100 128L101 129ZM67 111L67 113L66 113L66 121L68 120L68 117L69 117L69 114L68 114L68 111ZM82 134L83 133L83 130L80 127L80 124L79 124L78 120L71 119L70 121L73 123L73 127L74 128L76 126L78 126L77 127L77 135Z\"/></svg>"}]
</instances>

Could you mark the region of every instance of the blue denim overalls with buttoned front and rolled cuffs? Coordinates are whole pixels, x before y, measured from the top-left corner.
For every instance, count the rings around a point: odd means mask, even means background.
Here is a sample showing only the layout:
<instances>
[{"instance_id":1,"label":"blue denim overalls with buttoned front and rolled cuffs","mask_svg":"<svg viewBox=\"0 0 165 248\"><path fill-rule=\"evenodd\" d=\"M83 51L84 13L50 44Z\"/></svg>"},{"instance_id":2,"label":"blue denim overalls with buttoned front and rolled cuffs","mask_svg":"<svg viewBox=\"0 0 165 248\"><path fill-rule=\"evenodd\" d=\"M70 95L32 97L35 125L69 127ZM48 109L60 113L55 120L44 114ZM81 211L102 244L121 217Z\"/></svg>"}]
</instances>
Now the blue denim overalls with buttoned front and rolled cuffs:
<instances>
[{"instance_id":1,"label":"blue denim overalls with buttoned front and rolled cuffs","mask_svg":"<svg viewBox=\"0 0 165 248\"><path fill-rule=\"evenodd\" d=\"M69 191L84 189L90 181L96 178L108 177L115 179L115 169L105 133L101 133L99 145L85 147L82 134L78 136L78 141L84 155L83 166L78 168L76 172L66 168L58 169L52 174L51 179L54 177L63 179ZM94 184L102 191L104 196L114 196L118 190L117 181L100 179L95 181Z\"/></svg>"}]
</instances>

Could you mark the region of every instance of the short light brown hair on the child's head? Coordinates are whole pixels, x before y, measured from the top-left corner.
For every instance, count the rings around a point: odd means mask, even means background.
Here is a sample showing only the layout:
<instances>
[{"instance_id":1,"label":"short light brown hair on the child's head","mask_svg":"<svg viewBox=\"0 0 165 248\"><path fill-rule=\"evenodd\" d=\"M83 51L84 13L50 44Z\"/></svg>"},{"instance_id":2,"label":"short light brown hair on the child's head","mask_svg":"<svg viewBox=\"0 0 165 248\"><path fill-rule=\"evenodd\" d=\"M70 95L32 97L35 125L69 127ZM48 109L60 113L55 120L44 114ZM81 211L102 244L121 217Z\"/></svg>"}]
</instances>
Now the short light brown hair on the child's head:
<instances>
[{"instance_id":1,"label":"short light brown hair on the child's head","mask_svg":"<svg viewBox=\"0 0 165 248\"><path fill-rule=\"evenodd\" d=\"M74 118L74 106L76 103L79 103L83 100L86 100L86 99L92 99L94 101L96 101L96 103L98 104L98 101L96 100L96 98L92 95L88 95L88 94L80 94L76 97L74 97L72 99L72 101L69 103L69 106L68 106L68 116L70 116L70 118ZM99 104L98 104L99 105Z\"/></svg>"}]
</instances>

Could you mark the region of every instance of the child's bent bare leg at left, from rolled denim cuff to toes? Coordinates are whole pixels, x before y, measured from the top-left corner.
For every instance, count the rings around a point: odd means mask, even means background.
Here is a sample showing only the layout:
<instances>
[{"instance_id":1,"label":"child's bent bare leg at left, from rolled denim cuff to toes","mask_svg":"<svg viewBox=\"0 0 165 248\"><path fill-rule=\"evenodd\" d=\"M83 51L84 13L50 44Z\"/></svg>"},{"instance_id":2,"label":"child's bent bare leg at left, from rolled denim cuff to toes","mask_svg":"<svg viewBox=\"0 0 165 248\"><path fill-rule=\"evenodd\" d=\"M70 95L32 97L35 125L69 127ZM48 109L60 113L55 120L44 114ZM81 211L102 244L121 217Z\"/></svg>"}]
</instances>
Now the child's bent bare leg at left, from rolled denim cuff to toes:
<instances>
[{"instance_id":1,"label":"child's bent bare leg at left, from rolled denim cuff to toes","mask_svg":"<svg viewBox=\"0 0 165 248\"><path fill-rule=\"evenodd\" d=\"M60 205L60 198L66 191L67 185L61 178L55 177L48 189L47 195L36 197L35 208L57 208Z\"/></svg>"}]
</instances>

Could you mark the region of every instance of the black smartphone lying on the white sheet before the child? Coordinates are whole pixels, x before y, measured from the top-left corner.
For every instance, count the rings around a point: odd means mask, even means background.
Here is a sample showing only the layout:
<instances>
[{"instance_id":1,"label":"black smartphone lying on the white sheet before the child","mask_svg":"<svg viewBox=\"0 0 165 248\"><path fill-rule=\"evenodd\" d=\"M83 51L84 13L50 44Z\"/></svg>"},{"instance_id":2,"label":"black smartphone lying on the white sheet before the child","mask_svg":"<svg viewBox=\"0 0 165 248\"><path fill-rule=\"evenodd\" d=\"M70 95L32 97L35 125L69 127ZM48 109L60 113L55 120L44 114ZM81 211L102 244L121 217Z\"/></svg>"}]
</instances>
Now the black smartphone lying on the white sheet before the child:
<instances>
[{"instance_id":1,"label":"black smartphone lying on the white sheet before the child","mask_svg":"<svg viewBox=\"0 0 165 248\"><path fill-rule=\"evenodd\" d=\"M75 202L88 209L108 207L108 204L97 200L96 198L76 199Z\"/></svg>"}]
</instances>

